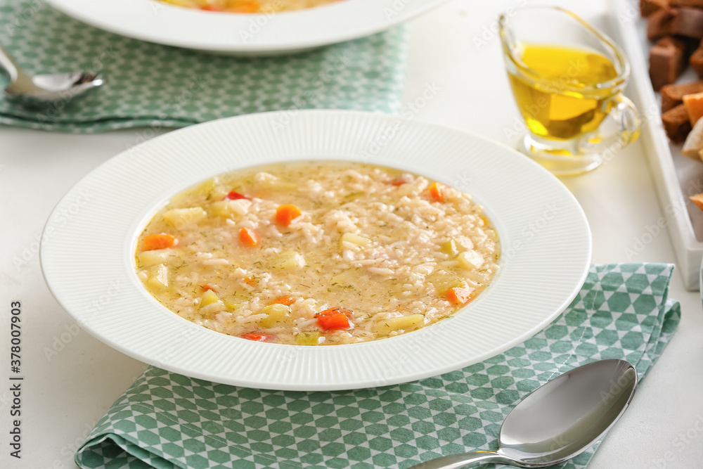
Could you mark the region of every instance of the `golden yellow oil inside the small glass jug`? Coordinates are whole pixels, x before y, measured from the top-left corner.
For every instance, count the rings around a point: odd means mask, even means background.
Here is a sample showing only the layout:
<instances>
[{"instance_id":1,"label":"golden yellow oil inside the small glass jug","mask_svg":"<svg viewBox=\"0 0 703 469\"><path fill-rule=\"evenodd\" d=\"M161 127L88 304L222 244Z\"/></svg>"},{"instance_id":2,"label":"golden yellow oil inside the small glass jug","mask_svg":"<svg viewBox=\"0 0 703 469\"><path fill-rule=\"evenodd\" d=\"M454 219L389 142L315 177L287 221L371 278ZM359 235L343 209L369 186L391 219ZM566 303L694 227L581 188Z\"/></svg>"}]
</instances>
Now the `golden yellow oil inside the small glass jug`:
<instances>
[{"instance_id":1,"label":"golden yellow oil inside the small glass jug","mask_svg":"<svg viewBox=\"0 0 703 469\"><path fill-rule=\"evenodd\" d=\"M572 139L595 131L617 93L602 84L618 76L613 63L593 50L524 44L522 64L510 70L510 85L527 127L546 139ZM596 87L595 85L601 85Z\"/></svg>"}]
</instances>

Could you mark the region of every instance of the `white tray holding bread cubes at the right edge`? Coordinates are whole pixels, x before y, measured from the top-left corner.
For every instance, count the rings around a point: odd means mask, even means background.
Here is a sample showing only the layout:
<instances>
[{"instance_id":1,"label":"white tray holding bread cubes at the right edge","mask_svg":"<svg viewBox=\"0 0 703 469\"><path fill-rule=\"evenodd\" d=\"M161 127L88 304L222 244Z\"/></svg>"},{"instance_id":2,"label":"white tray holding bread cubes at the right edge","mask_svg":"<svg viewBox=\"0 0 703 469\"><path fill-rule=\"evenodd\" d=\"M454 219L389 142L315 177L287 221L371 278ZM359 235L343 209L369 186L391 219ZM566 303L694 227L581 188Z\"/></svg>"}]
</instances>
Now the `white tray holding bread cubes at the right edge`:
<instances>
[{"instance_id":1,"label":"white tray holding bread cubes at the right edge","mask_svg":"<svg viewBox=\"0 0 703 469\"><path fill-rule=\"evenodd\" d=\"M703 163L683 156L681 144L669 143L666 138L661 98L654 93L648 72L651 44L647 41L647 22L640 17L637 0L617 1L617 26L621 45L632 67L631 98L643 120L640 139L664 212L661 219L652 220L651 231L656 231L654 226L666 225L683 283L688 290L698 290L703 258L703 212L688 197L703 192ZM689 69L679 81L696 79L695 73ZM656 235L650 233L650 236Z\"/></svg>"}]
</instances>

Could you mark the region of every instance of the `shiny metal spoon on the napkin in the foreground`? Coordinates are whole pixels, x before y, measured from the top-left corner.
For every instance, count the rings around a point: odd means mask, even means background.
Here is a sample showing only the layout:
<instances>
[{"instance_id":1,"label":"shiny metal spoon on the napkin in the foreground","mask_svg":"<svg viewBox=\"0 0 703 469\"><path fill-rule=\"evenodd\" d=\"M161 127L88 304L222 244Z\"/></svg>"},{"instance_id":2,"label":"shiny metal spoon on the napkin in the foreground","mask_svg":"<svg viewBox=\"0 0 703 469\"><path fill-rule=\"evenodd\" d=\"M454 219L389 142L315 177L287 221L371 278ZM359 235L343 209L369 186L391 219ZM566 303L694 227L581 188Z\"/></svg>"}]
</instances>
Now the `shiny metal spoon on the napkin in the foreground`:
<instances>
[{"instance_id":1,"label":"shiny metal spoon on the napkin in the foreground","mask_svg":"<svg viewBox=\"0 0 703 469\"><path fill-rule=\"evenodd\" d=\"M637 387L624 360L579 366L536 389L505 418L498 451L443 456L409 469L458 469L473 463L518 468L558 464L588 449L620 418Z\"/></svg>"}]
</instances>

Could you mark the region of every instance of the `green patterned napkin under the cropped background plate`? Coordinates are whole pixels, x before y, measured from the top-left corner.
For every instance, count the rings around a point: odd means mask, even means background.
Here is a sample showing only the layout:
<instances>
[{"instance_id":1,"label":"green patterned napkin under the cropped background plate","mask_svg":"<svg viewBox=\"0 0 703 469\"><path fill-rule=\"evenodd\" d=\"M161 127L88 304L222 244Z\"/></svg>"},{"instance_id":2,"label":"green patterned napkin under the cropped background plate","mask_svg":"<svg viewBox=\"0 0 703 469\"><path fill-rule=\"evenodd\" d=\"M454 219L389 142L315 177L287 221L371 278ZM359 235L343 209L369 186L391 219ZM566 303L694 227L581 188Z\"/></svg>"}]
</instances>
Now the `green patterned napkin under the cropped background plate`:
<instances>
[{"instance_id":1,"label":"green patterned napkin under the cropped background plate","mask_svg":"<svg viewBox=\"0 0 703 469\"><path fill-rule=\"evenodd\" d=\"M120 0L115 0L120 1ZM233 58L110 34L42 0L0 0L0 44L32 73L100 72L108 82L77 103L27 110L0 97L0 123L96 132L183 127L266 110L397 113L406 27L293 56ZM5 78L0 73L0 86Z\"/></svg>"}]
</instances>

